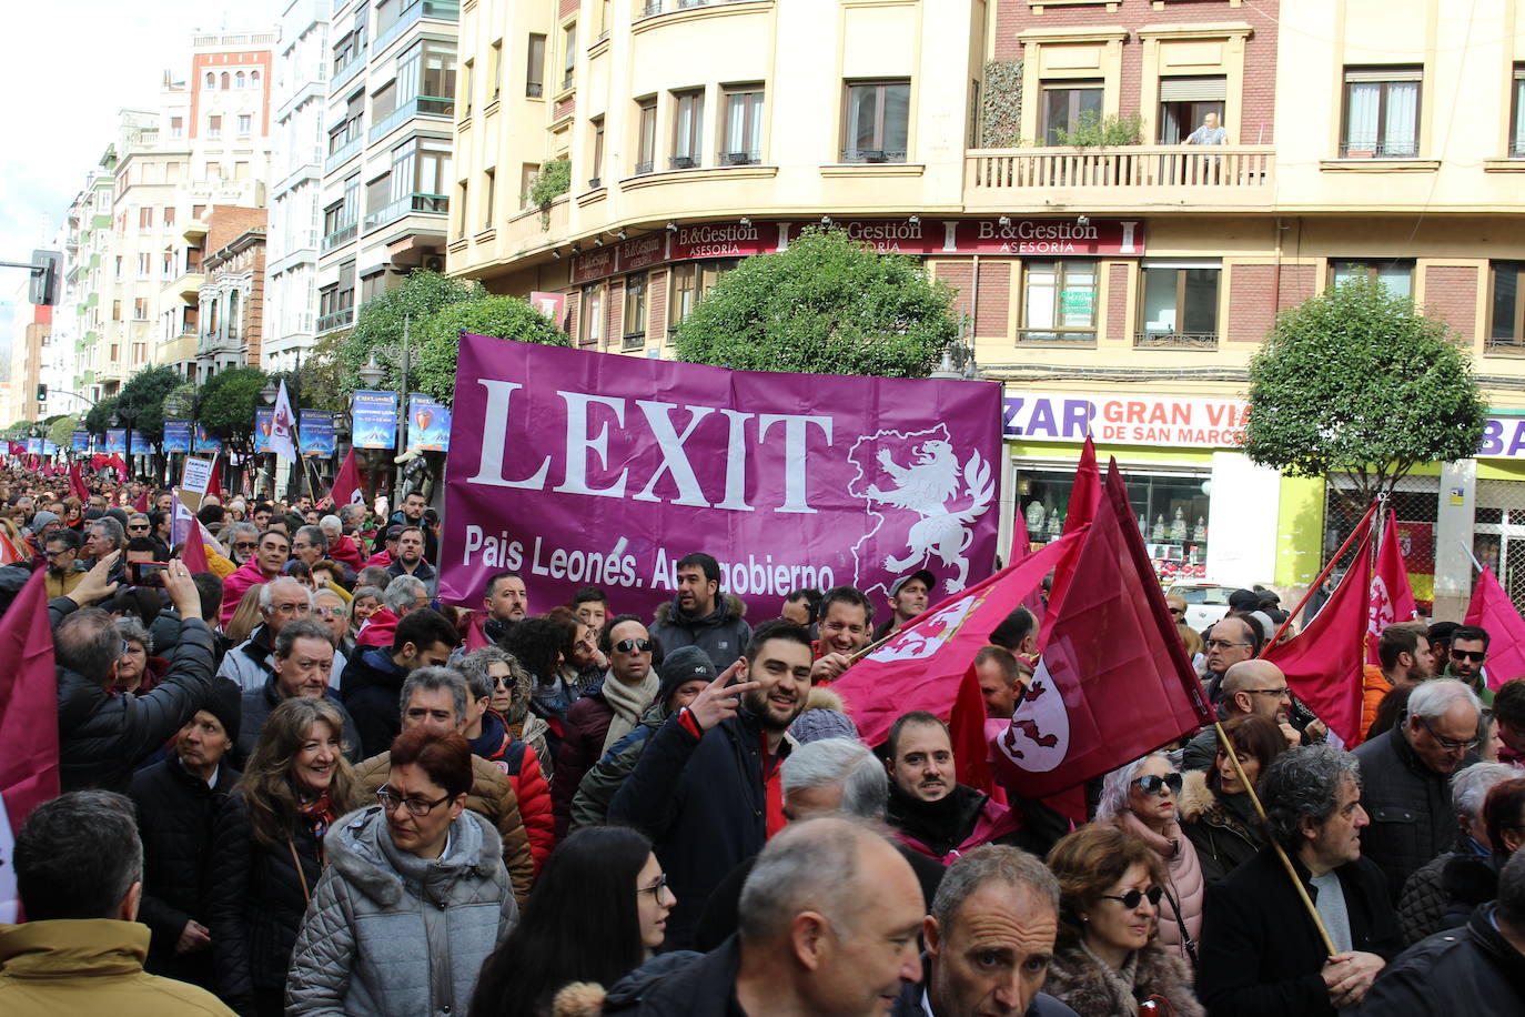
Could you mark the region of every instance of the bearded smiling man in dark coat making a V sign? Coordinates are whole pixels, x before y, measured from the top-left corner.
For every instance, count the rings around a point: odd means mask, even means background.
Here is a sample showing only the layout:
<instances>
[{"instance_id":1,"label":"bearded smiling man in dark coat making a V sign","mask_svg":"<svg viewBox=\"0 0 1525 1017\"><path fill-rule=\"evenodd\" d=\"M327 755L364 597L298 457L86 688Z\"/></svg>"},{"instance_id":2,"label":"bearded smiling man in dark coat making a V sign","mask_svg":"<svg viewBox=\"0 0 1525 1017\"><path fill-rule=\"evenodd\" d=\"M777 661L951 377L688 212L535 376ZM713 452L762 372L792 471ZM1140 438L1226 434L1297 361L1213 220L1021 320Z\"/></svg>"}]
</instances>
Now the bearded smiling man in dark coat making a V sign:
<instances>
[{"instance_id":1,"label":"bearded smiling man in dark coat making a V sign","mask_svg":"<svg viewBox=\"0 0 1525 1017\"><path fill-rule=\"evenodd\" d=\"M677 895L669 950L689 947L711 892L784 828L784 732L805 709L810 665L804 628L759 627L743 659L651 736L610 804L612 823L651 837Z\"/></svg>"}]
</instances>

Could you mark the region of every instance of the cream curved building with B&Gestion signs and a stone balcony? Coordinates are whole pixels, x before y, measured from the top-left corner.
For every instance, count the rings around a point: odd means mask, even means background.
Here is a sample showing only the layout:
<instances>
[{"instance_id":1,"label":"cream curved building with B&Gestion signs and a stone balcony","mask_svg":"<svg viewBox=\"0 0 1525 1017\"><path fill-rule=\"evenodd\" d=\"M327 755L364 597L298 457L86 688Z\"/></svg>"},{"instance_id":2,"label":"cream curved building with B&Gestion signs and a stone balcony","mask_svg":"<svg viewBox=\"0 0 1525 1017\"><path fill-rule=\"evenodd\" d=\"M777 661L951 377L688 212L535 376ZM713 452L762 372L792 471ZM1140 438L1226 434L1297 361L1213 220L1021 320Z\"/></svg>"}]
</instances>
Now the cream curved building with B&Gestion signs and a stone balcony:
<instances>
[{"instance_id":1,"label":"cream curved building with B&Gestion signs and a stone balcony","mask_svg":"<svg viewBox=\"0 0 1525 1017\"><path fill-rule=\"evenodd\" d=\"M450 271L666 355L735 259L843 226L956 288L1035 540L1092 430L1164 579L1289 589L1353 520L1237 451L1246 367L1279 310L1377 279L1496 409L1478 459L1400 489L1415 590L1455 613L1470 549L1525 601L1525 5L1443 6L474 0ZM1090 145L1113 119L1135 143Z\"/></svg>"}]
</instances>

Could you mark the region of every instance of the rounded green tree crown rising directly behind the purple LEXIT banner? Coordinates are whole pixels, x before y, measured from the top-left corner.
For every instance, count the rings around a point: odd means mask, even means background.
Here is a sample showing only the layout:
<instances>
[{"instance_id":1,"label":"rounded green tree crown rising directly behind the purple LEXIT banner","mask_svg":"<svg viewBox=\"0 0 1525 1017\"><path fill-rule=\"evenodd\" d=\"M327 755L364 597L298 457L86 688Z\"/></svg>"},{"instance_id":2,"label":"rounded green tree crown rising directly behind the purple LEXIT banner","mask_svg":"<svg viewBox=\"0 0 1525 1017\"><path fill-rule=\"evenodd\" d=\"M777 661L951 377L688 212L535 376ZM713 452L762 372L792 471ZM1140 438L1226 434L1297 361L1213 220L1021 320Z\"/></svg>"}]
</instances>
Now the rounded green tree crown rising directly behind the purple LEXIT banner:
<instances>
[{"instance_id":1,"label":"rounded green tree crown rising directly behind the purple LEXIT banner","mask_svg":"<svg viewBox=\"0 0 1525 1017\"><path fill-rule=\"evenodd\" d=\"M921 378L958 335L953 290L921 262L807 229L720 279L679 326L679 360L741 371Z\"/></svg>"}]
</instances>

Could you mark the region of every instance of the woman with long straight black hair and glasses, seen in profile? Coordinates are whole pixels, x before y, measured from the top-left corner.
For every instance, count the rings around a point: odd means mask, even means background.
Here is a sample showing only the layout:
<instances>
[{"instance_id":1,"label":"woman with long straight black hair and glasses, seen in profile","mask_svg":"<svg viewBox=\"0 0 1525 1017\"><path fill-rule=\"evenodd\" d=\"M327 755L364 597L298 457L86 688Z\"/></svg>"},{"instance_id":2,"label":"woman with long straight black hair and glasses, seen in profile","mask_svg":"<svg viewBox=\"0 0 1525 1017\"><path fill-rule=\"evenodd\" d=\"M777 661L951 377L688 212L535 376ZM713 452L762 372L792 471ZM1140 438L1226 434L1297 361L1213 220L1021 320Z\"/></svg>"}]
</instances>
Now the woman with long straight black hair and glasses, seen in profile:
<instances>
[{"instance_id":1,"label":"woman with long straight black hair and glasses, seen in profile","mask_svg":"<svg viewBox=\"0 0 1525 1017\"><path fill-rule=\"evenodd\" d=\"M523 919L482 967L471 1017L601 1012L602 990L662 945L676 903L645 836L576 831L551 854Z\"/></svg>"}]
</instances>

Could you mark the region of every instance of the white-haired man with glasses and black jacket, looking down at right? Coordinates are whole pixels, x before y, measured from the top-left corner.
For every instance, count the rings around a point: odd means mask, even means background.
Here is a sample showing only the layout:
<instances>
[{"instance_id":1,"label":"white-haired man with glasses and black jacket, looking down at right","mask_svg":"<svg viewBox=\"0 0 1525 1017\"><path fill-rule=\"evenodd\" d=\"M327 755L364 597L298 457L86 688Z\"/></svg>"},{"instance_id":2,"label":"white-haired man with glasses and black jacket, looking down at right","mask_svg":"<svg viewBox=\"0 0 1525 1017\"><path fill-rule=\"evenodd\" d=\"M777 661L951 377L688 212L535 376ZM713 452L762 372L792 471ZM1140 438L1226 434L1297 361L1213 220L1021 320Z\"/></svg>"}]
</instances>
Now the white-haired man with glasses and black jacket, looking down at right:
<instances>
[{"instance_id":1,"label":"white-haired man with glasses and black jacket, looking down at right","mask_svg":"<svg viewBox=\"0 0 1525 1017\"><path fill-rule=\"evenodd\" d=\"M1356 749L1360 802L1371 814L1360 845L1388 878L1392 901L1415 869L1456 839L1450 776L1478 761L1481 711L1464 683L1423 682L1398 723Z\"/></svg>"}]
</instances>

